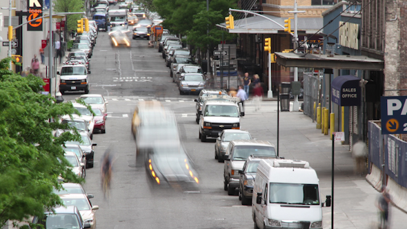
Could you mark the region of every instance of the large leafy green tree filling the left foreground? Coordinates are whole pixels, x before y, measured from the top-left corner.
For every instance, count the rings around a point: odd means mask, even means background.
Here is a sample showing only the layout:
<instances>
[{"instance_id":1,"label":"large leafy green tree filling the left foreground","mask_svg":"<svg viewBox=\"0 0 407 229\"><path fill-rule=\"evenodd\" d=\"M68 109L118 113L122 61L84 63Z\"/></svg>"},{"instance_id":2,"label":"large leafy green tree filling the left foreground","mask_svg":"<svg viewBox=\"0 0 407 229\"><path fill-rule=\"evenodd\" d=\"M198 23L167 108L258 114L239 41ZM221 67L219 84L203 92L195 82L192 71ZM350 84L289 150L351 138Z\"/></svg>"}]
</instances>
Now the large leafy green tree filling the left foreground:
<instances>
[{"instance_id":1,"label":"large leafy green tree filling the left foreground","mask_svg":"<svg viewBox=\"0 0 407 229\"><path fill-rule=\"evenodd\" d=\"M52 192L61 188L59 176L82 181L68 168L61 147L79 140L78 132L52 135L52 130L66 128L58 117L77 110L41 94L45 83L39 77L21 77L8 70L8 63L9 58L0 61L0 228L7 220L24 221L61 204Z\"/></svg>"}]
</instances>

